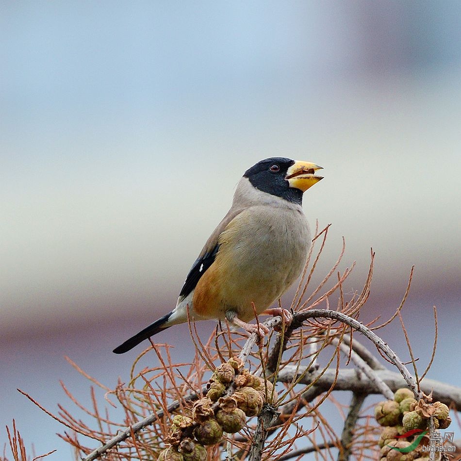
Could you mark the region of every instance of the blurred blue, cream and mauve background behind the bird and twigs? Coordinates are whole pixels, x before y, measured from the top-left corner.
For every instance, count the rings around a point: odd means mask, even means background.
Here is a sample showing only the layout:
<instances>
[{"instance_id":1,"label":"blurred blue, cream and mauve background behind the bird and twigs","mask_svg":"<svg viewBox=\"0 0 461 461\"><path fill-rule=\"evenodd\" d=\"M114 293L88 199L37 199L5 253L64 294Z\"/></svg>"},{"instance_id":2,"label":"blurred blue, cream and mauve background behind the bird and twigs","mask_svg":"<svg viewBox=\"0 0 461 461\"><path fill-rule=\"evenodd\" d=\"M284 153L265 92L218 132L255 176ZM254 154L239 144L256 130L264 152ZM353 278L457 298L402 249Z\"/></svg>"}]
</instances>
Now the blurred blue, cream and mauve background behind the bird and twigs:
<instances>
[{"instance_id":1,"label":"blurred blue, cream and mauve background behind the bird and twigs","mask_svg":"<svg viewBox=\"0 0 461 461\"><path fill-rule=\"evenodd\" d=\"M428 377L461 382L458 1L2 1L0 40L2 445L16 418L37 454L72 459L16 388L57 412L62 379L88 403L64 356L126 381L136 351L112 349L174 307L240 176L273 156L325 168L304 198L332 223L318 280L344 235L360 291L373 247L363 320L387 318L414 264L419 366L436 305ZM381 335L408 360L397 323ZM187 329L157 338L187 359Z\"/></svg>"}]
</instances>

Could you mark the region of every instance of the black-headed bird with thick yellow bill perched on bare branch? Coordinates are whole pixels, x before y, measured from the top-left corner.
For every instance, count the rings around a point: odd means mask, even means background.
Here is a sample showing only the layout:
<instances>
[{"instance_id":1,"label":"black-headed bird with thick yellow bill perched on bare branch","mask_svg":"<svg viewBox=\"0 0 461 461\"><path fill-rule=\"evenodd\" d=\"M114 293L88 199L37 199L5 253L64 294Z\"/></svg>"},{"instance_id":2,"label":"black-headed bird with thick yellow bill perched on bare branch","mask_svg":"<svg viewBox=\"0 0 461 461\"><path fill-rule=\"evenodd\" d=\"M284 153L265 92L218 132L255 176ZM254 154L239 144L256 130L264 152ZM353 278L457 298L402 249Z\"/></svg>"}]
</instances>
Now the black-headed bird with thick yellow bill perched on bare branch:
<instances>
[{"instance_id":1,"label":"black-headed bird with thick yellow bill perched on bare branch","mask_svg":"<svg viewBox=\"0 0 461 461\"><path fill-rule=\"evenodd\" d=\"M229 212L193 263L176 307L114 349L123 354L173 325L194 320L225 320L248 333L267 333L248 323L255 312L282 315L270 306L301 274L312 244L302 209L306 190L322 180L311 162L272 157L247 169ZM189 311L189 313L188 313Z\"/></svg>"}]
</instances>

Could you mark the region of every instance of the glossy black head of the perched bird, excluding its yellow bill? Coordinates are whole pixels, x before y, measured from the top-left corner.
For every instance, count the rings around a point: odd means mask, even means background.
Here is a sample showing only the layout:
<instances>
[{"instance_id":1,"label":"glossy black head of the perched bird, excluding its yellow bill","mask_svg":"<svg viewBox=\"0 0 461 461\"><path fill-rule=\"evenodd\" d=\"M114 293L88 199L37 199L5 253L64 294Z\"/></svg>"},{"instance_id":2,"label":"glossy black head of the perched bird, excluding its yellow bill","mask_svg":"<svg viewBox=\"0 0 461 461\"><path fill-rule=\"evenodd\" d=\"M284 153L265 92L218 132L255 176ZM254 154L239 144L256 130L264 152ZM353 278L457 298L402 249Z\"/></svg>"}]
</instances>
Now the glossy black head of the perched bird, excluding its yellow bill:
<instances>
[{"instance_id":1,"label":"glossy black head of the perched bird, excluding its yellow bill","mask_svg":"<svg viewBox=\"0 0 461 461\"><path fill-rule=\"evenodd\" d=\"M290 187L290 183L285 179L288 168L295 163L295 160L273 157L253 165L243 176L248 178L256 189L300 205L303 191Z\"/></svg>"}]
</instances>

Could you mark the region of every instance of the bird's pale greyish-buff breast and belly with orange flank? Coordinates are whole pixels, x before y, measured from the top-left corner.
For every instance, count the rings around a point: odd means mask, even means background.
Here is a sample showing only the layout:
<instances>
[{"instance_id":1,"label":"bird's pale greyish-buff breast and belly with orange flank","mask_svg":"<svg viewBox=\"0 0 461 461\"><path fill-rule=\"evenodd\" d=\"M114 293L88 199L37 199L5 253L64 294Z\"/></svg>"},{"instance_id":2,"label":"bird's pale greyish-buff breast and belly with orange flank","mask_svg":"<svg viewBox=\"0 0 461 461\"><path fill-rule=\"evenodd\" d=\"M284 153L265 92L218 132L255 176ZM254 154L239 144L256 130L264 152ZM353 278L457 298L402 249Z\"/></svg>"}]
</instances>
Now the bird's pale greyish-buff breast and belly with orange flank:
<instances>
[{"instance_id":1,"label":"bird's pale greyish-buff breast and belly with orange flank","mask_svg":"<svg viewBox=\"0 0 461 461\"><path fill-rule=\"evenodd\" d=\"M194 311L224 318L228 310L249 321L265 311L298 278L311 244L301 207L253 206L219 237L214 264L199 280Z\"/></svg>"}]
</instances>

